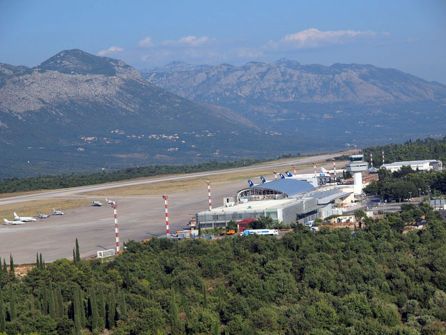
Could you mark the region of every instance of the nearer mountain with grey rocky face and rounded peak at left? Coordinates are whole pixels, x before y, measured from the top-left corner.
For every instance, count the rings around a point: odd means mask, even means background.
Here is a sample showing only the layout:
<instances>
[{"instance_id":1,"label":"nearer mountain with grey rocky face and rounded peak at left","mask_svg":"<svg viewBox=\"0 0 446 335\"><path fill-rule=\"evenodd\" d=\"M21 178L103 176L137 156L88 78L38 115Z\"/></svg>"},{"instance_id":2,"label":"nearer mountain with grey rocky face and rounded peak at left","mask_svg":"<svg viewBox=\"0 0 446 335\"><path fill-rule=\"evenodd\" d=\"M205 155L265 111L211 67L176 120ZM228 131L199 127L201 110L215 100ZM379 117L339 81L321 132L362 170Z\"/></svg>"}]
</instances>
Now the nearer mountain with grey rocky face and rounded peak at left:
<instances>
[{"instance_id":1,"label":"nearer mountain with grey rocky face and rounded peak at left","mask_svg":"<svg viewBox=\"0 0 446 335\"><path fill-rule=\"evenodd\" d=\"M116 59L65 50L33 68L0 64L0 177L264 156L261 135Z\"/></svg>"}]
</instances>

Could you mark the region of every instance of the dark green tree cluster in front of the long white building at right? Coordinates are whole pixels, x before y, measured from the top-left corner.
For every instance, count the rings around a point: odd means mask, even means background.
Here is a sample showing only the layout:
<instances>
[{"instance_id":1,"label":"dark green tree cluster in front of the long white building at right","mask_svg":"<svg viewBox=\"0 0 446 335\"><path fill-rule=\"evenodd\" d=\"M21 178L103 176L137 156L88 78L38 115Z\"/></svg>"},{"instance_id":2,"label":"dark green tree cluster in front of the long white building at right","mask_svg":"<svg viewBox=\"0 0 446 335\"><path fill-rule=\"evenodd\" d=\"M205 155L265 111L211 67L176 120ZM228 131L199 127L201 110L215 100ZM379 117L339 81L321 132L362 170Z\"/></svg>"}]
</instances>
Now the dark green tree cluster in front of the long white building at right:
<instances>
[{"instance_id":1,"label":"dark green tree cluster in front of the long white building at right","mask_svg":"<svg viewBox=\"0 0 446 335\"><path fill-rule=\"evenodd\" d=\"M364 188L364 193L378 194L384 200L415 198L420 195L439 197L446 193L446 171L422 172L414 171L410 166L403 166L401 170L390 172L380 169L379 180L373 181Z\"/></svg>"}]
</instances>

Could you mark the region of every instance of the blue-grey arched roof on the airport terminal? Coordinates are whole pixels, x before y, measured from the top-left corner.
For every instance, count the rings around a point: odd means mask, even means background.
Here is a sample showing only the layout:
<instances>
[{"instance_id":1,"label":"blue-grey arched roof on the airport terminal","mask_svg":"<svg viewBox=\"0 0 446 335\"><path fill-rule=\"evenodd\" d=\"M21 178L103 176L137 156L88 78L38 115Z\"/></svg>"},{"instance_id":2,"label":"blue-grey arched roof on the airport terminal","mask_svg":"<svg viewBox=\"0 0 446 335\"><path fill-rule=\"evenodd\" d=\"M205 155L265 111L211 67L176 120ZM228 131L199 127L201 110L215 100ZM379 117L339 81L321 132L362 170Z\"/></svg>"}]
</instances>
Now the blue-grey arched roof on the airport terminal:
<instances>
[{"instance_id":1,"label":"blue-grey arched roof on the airport terminal","mask_svg":"<svg viewBox=\"0 0 446 335\"><path fill-rule=\"evenodd\" d=\"M293 198L301 193L311 191L314 189L312 184L307 183L307 181L297 180L297 179L277 179L273 181L268 181L265 184L259 184L255 186L249 186L238 191L238 200L243 197L259 197L262 198Z\"/></svg>"}]
</instances>

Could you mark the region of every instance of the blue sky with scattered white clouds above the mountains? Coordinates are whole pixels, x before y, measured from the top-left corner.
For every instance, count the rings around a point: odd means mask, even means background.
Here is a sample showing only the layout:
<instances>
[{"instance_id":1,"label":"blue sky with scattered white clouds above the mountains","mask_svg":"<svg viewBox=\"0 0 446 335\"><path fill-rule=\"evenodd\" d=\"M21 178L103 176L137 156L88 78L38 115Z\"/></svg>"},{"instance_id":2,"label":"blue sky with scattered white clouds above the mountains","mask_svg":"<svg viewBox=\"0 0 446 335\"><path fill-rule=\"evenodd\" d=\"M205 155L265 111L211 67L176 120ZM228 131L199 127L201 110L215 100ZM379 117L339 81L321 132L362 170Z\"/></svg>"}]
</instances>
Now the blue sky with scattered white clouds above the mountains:
<instances>
[{"instance_id":1,"label":"blue sky with scattered white clouds above the mountains","mask_svg":"<svg viewBox=\"0 0 446 335\"><path fill-rule=\"evenodd\" d=\"M75 48L136 68L288 57L446 84L446 0L0 0L0 62L36 66Z\"/></svg>"}]
</instances>

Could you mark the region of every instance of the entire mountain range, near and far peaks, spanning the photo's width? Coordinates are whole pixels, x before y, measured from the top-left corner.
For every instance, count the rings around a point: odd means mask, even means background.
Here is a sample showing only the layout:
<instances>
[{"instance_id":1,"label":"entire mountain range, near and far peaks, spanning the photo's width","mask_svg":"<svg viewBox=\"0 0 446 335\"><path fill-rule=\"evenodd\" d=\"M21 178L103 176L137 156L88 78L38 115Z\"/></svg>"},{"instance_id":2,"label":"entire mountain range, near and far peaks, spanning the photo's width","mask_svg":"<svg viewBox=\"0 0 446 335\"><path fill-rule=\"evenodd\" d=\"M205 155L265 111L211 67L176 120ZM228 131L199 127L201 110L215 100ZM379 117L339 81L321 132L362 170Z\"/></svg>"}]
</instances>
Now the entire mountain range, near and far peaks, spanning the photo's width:
<instances>
[{"instance_id":1,"label":"entire mountain range, near and far peaks, spanning the photo's width","mask_svg":"<svg viewBox=\"0 0 446 335\"><path fill-rule=\"evenodd\" d=\"M64 50L0 64L0 177L401 142L445 129L446 87L370 65L180 61Z\"/></svg>"}]
</instances>

